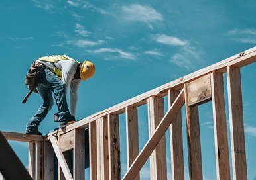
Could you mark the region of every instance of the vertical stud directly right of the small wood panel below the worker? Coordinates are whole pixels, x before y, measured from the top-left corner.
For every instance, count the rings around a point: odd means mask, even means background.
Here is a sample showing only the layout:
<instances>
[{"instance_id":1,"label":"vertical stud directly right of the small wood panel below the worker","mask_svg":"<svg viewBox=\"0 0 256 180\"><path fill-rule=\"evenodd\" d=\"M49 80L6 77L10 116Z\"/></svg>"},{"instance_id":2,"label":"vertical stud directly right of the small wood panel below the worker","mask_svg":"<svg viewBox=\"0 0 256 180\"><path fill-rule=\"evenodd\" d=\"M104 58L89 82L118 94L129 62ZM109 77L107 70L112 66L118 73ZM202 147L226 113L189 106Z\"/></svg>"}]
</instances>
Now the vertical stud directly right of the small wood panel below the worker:
<instances>
[{"instance_id":1,"label":"vertical stud directly right of the small wood panel below the worker","mask_svg":"<svg viewBox=\"0 0 256 180\"><path fill-rule=\"evenodd\" d=\"M73 174L74 180L84 179L84 168L85 168L85 130L75 129L74 130L74 153L73 153Z\"/></svg>"}]
</instances>

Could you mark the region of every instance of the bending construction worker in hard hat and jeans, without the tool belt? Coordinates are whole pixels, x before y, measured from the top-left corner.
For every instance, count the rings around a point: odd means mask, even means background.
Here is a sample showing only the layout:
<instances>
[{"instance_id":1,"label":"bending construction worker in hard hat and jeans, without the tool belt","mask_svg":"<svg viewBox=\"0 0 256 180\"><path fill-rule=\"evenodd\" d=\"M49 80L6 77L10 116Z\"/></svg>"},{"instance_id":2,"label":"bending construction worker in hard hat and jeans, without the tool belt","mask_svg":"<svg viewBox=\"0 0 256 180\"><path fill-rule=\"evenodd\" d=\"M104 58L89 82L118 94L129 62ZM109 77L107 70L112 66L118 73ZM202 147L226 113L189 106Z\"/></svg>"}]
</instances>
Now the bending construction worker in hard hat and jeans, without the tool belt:
<instances>
[{"instance_id":1,"label":"bending construction worker in hard hat and jeans, without the tool belt","mask_svg":"<svg viewBox=\"0 0 256 180\"><path fill-rule=\"evenodd\" d=\"M44 56L36 60L36 64L43 67L41 83L36 88L43 103L27 123L25 133L42 135L38 131L38 126L52 108L54 103L52 93L58 106L60 128L76 122L75 114L80 81L86 81L92 77L95 73L95 66L88 60L80 63L66 55ZM70 111L66 101L68 89L70 89Z\"/></svg>"}]
</instances>

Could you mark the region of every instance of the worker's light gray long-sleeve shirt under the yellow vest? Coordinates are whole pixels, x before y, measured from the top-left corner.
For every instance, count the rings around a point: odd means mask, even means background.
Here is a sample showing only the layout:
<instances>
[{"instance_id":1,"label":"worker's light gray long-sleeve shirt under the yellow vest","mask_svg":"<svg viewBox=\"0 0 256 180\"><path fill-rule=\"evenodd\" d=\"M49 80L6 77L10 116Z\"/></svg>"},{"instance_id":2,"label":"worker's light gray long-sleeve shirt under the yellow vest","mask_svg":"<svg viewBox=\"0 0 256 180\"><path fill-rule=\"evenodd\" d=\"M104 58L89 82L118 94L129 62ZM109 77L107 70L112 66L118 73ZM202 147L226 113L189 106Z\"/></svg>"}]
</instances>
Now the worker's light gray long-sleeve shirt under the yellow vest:
<instances>
[{"instance_id":1,"label":"worker's light gray long-sleeve shirt under the yellow vest","mask_svg":"<svg viewBox=\"0 0 256 180\"><path fill-rule=\"evenodd\" d=\"M40 61L40 60L37 60ZM76 73L77 63L72 60L61 60L54 63L42 62L48 69L58 68L62 71L62 82L68 90L70 88L70 114L76 116L76 107L78 103L78 88L80 86L81 79L74 79Z\"/></svg>"}]
</instances>

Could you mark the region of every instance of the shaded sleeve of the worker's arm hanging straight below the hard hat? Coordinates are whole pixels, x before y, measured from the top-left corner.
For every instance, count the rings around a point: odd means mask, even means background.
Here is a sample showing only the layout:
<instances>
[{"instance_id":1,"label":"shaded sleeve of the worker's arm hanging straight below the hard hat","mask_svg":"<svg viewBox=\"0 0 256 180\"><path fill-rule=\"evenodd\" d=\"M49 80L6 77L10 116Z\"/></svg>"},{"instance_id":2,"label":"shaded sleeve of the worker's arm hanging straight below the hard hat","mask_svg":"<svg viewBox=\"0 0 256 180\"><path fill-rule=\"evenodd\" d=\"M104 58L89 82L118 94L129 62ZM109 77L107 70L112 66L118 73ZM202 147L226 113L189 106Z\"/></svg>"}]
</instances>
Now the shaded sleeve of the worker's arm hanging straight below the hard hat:
<instances>
[{"instance_id":1,"label":"shaded sleeve of the worker's arm hanging straight below the hard hat","mask_svg":"<svg viewBox=\"0 0 256 180\"><path fill-rule=\"evenodd\" d=\"M73 80L70 85L70 114L76 116L76 107L78 104L78 88L80 79Z\"/></svg>"}]
</instances>

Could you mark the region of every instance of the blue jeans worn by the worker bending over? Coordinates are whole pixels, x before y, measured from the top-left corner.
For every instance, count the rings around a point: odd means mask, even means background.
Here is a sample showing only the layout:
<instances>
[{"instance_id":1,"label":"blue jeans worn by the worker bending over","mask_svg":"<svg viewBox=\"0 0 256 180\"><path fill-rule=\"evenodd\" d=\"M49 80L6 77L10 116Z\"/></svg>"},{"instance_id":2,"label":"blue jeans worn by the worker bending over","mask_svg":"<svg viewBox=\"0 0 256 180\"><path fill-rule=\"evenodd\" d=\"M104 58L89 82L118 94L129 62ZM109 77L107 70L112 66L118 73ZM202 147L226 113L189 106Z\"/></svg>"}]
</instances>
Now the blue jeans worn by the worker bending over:
<instances>
[{"instance_id":1,"label":"blue jeans worn by the worker bending over","mask_svg":"<svg viewBox=\"0 0 256 180\"><path fill-rule=\"evenodd\" d=\"M40 122L44 120L50 109L52 109L52 93L54 94L56 105L58 106L58 122L64 124L72 119L66 101L66 87L64 83L47 68L42 68L42 83L37 87L37 91L41 95L43 103L36 111L36 114L29 120L26 132L38 131Z\"/></svg>"}]
</instances>

